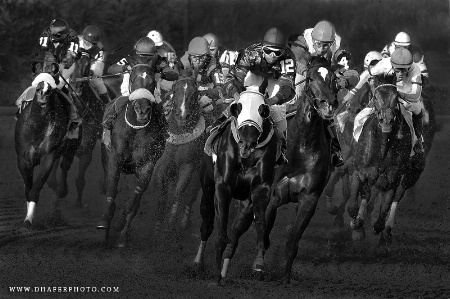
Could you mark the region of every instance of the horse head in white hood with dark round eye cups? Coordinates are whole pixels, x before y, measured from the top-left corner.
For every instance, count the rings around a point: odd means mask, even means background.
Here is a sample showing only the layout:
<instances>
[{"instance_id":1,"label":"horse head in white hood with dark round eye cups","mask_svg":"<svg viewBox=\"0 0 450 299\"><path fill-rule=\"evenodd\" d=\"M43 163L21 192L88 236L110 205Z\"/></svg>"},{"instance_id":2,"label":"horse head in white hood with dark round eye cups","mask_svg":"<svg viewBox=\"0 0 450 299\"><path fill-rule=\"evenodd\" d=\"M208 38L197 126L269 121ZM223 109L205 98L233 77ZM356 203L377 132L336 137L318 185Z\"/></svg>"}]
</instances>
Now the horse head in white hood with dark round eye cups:
<instances>
[{"instance_id":1,"label":"horse head in white hood with dark round eye cups","mask_svg":"<svg viewBox=\"0 0 450 299\"><path fill-rule=\"evenodd\" d=\"M263 134L263 122L270 116L270 107L258 87L250 86L240 94L239 101L231 104L230 112L237 119L239 154L248 158Z\"/></svg>"}]
</instances>

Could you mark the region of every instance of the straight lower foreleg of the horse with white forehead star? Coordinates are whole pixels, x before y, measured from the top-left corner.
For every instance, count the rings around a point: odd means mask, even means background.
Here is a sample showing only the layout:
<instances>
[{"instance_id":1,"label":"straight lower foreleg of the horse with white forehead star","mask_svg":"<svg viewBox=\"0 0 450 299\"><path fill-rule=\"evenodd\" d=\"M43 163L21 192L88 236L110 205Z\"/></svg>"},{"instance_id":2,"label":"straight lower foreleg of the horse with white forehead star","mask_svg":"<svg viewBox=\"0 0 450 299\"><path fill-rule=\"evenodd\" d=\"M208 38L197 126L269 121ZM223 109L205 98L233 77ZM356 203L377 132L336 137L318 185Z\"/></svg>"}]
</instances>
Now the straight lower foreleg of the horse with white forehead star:
<instances>
[{"instance_id":1,"label":"straight lower foreleg of the horse with white forehead star","mask_svg":"<svg viewBox=\"0 0 450 299\"><path fill-rule=\"evenodd\" d=\"M321 192L314 192L305 195L298 201L298 211L294 226L286 242L286 266L284 269L282 283L289 283L291 280L292 264L298 253L298 242L302 238L305 229L308 227L316 211L317 202Z\"/></svg>"}]
</instances>

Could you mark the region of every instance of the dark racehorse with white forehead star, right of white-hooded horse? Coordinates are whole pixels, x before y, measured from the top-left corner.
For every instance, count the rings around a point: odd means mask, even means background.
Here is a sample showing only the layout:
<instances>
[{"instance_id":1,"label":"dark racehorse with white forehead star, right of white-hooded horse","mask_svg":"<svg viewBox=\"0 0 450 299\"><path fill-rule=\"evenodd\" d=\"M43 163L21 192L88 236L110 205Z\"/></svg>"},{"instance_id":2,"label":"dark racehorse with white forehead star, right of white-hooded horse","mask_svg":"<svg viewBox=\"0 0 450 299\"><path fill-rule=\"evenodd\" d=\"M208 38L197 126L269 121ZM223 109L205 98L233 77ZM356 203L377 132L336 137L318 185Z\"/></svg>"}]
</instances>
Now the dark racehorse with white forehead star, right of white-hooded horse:
<instances>
[{"instance_id":1,"label":"dark racehorse with white forehead star, right of white-hooded horse","mask_svg":"<svg viewBox=\"0 0 450 299\"><path fill-rule=\"evenodd\" d=\"M298 242L314 216L322 191L334 167L330 159L330 138L324 119L333 116L337 106L335 75L324 58L312 58L307 65L304 92L298 107L288 119L287 158L289 164L277 169L270 202L266 210L265 246L275 224L277 209L297 203L296 219L286 243L286 266L283 283L289 283Z\"/></svg>"}]
</instances>

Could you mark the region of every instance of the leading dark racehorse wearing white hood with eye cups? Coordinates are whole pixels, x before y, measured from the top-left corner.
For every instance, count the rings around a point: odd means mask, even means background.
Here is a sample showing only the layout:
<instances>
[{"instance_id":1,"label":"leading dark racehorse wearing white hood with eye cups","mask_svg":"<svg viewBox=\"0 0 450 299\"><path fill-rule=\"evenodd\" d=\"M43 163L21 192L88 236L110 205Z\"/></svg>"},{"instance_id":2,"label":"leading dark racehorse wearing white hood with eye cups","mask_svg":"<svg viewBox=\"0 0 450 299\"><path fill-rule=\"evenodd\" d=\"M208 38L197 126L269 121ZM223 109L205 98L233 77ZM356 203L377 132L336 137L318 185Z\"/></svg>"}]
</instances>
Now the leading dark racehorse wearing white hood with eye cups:
<instances>
[{"instance_id":1,"label":"leading dark racehorse wearing white hood with eye cups","mask_svg":"<svg viewBox=\"0 0 450 299\"><path fill-rule=\"evenodd\" d=\"M203 267L204 249L214 229L216 216L218 232L214 284L223 282L239 238L252 222L255 223L258 249L253 267L258 270L264 268L265 210L277 158L278 140L268 118L270 108L264 103L262 94L248 87L241 93L239 101L230 106L230 112L233 117L223 125L223 132L217 137L215 165L208 157L201 166L203 196L200 213L203 222L195 263L199 268ZM241 204L229 239L227 225L232 198L240 200Z\"/></svg>"}]
</instances>

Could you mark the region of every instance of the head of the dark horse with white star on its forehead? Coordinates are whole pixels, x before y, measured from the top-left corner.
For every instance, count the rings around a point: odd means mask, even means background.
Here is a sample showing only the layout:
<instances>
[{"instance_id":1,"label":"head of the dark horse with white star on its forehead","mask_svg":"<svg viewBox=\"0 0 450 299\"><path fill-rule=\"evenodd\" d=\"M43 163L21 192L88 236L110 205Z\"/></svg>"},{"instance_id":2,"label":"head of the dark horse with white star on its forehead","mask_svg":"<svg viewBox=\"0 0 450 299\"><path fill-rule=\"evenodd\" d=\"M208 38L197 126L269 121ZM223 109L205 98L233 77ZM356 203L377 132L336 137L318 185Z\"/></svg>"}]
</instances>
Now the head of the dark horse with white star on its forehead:
<instances>
[{"instance_id":1,"label":"head of the dark horse with white star on its forehead","mask_svg":"<svg viewBox=\"0 0 450 299\"><path fill-rule=\"evenodd\" d=\"M313 57L306 70L305 94L311 106L323 118L333 116L337 106L336 76L323 57Z\"/></svg>"}]
</instances>

